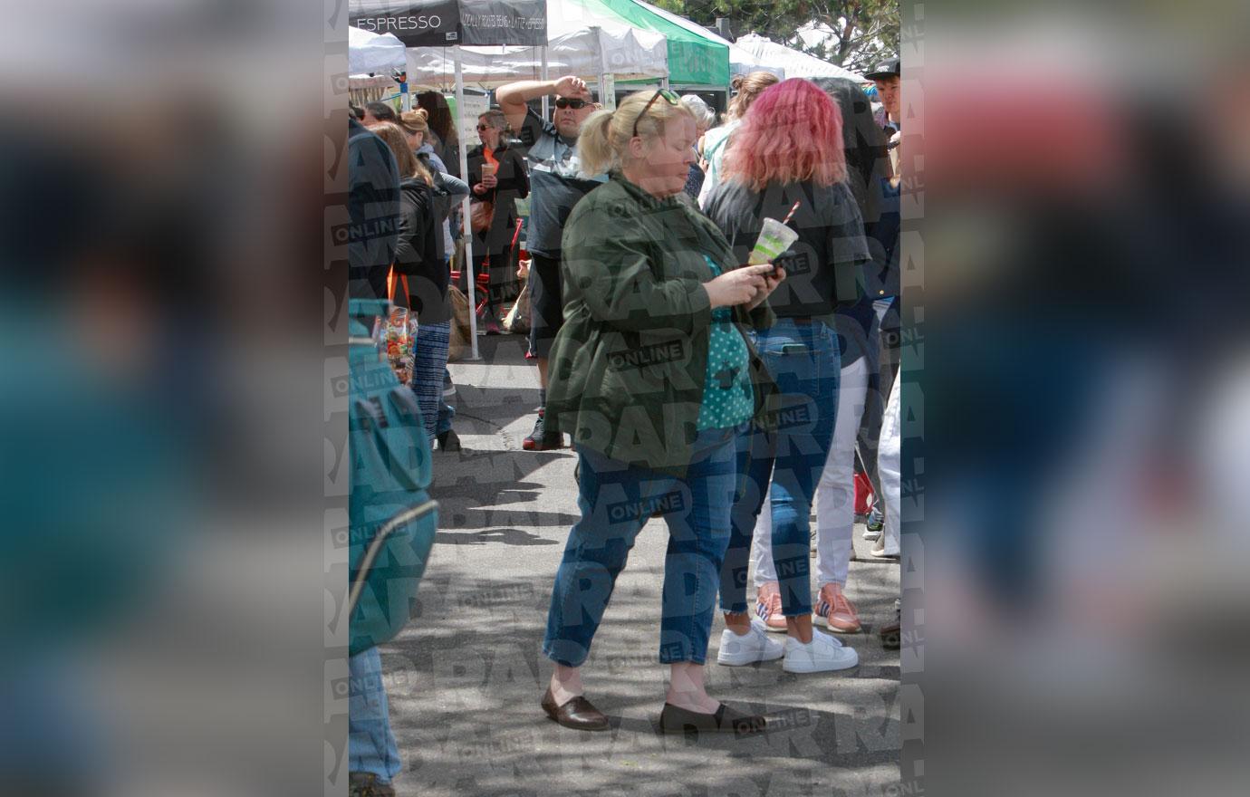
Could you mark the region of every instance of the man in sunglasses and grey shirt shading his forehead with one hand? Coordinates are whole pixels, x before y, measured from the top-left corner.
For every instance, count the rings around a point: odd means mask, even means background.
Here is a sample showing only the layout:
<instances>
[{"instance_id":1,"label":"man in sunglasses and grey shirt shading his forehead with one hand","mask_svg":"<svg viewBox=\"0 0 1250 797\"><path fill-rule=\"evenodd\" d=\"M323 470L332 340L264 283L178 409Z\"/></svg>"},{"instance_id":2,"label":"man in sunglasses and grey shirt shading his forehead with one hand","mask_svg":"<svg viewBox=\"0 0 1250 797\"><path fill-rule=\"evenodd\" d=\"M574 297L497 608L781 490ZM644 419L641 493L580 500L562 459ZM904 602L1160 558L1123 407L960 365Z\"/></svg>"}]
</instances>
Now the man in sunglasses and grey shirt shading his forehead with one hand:
<instances>
[{"instance_id":1,"label":"man in sunglasses and grey shirt shading his forehead with one hand","mask_svg":"<svg viewBox=\"0 0 1250 797\"><path fill-rule=\"evenodd\" d=\"M526 105L545 95L556 97L552 121L541 119ZM608 175L588 177L580 174L578 134L596 109L584 80L572 75L548 81L522 80L500 86L495 99L512 130L518 131L530 169L530 220L525 236L525 249L532 257L530 356L539 365L541 405L546 402L548 352L564 320L560 301L560 236L564 222L574 205L605 182ZM540 406L534 431L521 443L526 451L564 447L564 436L546 432L542 417Z\"/></svg>"}]
</instances>

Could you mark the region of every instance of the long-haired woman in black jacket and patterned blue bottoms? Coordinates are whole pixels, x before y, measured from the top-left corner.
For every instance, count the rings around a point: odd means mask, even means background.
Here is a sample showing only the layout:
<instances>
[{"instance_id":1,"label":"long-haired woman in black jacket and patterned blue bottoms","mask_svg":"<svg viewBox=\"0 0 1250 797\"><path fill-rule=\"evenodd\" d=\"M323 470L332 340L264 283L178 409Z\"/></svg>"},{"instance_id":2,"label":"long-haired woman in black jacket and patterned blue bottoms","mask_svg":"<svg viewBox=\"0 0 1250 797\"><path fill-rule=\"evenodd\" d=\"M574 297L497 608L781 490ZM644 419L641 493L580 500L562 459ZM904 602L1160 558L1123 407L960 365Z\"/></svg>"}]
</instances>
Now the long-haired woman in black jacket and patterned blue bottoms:
<instances>
[{"instance_id":1,"label":"long-haired woman in black jacket and patterned blue bottoms","mask_svg":"<svg viewBox=\"0 0 1250 797\"><path fill-rule=\"evenodd\" d=\"M451 271L439 255L434 175L412 154L399 125L384 122L370 130L386 142L399 166L402 212L395 274L406 279L408 291L406 295L398 294L396 301L406 304L416 315L412 392L416 394L421 421L432 445L442 406L442 372L448 366L451 336L451 305L448 301Z\"/></svg>"}]
</instances>

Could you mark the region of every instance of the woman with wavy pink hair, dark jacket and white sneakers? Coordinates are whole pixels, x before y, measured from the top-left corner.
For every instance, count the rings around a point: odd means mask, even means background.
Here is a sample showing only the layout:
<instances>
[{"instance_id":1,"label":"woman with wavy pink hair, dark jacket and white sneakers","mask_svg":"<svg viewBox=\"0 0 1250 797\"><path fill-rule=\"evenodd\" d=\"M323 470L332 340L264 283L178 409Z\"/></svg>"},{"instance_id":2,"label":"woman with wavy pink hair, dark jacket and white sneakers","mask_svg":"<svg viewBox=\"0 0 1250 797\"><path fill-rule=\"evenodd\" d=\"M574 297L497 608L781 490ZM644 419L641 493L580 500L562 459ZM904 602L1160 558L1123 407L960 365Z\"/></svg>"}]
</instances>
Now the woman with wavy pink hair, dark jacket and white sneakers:
<instances>
[{"instance_id":1,"label":"woman with wavy pink hair, dark jacket and white sneakers","mask_svg":"<svg viewBox=\"0 0 1250 797\"><path fill-rule=\"evenodd\" d=\"M836 637L811 627L809 582L812 496L838 418L834 312L859 301L862 264L870 260L859 205L846 185L841 111L806 80L776 84L742 117L724 167L725 180L709 195L705 209L739 257L755 246L765 219L789 219L798 240L784 257L790 277L769 297L778 321L755 332L779 391L776 428L758 428L740 452L748 478L734 507L721 578L726 631L719 661L745 665L771 656L762 623L752 625L746 610L748 560L762 507L771 533L761 522L761 533L770 537L761 543L771 541L775 602L788 635L782 667L789 672L844 670L859 657ZM838 603L846 581L850 530L819 531L816 570L824 606ZM771 613L771 598L765 608Z\"/></svg>"}]
</instances>

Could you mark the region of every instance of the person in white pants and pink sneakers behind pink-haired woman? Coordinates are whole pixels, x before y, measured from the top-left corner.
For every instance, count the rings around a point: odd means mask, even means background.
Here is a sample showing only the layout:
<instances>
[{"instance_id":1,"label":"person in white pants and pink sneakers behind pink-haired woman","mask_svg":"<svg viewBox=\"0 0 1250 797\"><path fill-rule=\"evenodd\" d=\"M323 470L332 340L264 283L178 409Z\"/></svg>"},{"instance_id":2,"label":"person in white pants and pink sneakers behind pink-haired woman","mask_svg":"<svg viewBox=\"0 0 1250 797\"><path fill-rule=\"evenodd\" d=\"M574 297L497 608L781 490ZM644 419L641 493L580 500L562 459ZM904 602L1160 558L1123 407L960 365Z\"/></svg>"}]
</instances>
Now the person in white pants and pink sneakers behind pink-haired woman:
<instances>
[{"instance_id":1,"label":"person in white pants and pink sneakers behind pink-haired woman","mask_svg":"<svg viewBox=\"0 0 1250 797\"><path fill-rule=\"evenodd\" d=\"M834 425L834 442L825 461L815 492L816 512L816 590L815 617L838 633L858 633L859 616L855 606L846 600L846 575L850 567L855 530L855 436L869 389L871 360L865 351L872 317L872 302L865 300L835 314L838 337L841 346L841 381L839 382L838 420ZM768 506L765 500L765 506ZM756 613L770 631L785 631L781 616L781 593L776 568L772 563L772 522L769 512L761 512L755 523L751 545L751 565L755 571Z\"/></svg>"}]
</instances>

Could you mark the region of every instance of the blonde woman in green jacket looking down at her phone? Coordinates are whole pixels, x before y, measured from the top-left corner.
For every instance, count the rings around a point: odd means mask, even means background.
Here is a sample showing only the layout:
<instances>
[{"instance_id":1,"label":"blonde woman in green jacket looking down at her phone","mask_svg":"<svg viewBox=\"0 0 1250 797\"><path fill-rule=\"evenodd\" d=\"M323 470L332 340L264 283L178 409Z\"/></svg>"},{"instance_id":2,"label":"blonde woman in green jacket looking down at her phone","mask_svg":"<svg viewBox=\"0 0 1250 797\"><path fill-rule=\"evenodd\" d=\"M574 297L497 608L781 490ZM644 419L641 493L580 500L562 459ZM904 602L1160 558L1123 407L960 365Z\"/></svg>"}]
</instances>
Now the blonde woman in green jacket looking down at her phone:
<instances>
[{"instance_id":1,"label":"blonde woman in green jacket looking down at her phone","mask_svg":"<svg viewBox=\"0 0 1250 797\"><path fill-rule=\"evenodd\" d=\"M610 177L565 224L565 321L549 370L546 423L572 437L581 518L551 593L542 650L555 671L541 705L570 728L610 727L582 693L581 665L634 538L658 511L669 526L660 725L674 733L764 725L708 695L704 662L738 436L766 392L744 330L772 324L765 300L784 272L739 266L721 231L679 199L695 139L694 116L668 90L596 111L578 139L584 171Z\"/></svg>"}]
</instances>

